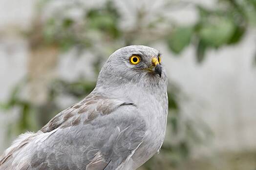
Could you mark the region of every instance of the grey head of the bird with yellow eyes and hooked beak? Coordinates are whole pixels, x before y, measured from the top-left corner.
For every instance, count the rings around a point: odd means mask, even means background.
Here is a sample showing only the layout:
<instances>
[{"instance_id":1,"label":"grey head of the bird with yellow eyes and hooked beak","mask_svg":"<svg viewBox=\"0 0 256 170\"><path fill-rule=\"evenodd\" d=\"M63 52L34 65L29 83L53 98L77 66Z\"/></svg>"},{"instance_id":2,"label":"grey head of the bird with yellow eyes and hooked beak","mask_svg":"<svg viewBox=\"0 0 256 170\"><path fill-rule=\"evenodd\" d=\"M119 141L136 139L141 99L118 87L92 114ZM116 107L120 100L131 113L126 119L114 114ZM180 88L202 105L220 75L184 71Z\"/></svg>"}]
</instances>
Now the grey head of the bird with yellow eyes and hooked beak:
<instances>
[{"instance_id":1,"label":"grey head of the bird with yellow eyes and hooked beak","mask_svg":"<svg viewBox=\"0 0 256 170\"><path fill-rule=\"evenodd\" d=\"M102 68L98 80L103 84L128 82L158 84L167 82L166 71L159 51L147 46L127 46L115 51Z\"/></svg>"}]
</instances>

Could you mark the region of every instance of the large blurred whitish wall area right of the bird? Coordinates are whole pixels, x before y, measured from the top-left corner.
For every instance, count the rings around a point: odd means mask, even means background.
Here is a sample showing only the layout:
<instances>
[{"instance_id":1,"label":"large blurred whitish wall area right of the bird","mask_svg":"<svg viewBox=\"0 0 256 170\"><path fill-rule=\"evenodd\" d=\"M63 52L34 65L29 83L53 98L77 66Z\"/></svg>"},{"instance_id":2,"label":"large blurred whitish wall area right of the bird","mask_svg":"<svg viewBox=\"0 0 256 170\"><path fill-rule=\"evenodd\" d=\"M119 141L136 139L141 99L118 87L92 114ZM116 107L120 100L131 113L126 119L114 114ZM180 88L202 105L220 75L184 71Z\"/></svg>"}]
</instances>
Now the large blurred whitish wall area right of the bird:
<instances>
[{"instance_id":1,"label":"large blurred whitish wall area right of the bird","mask_svg":"<svg viewBox=\"0 0 256 170\"><path fill-rule=\"evenodd\" d=\"M214 133L213 143L201 148L205 152L256 149L255 40L251 30L241 43L209 51L201 65L193 47L175 57L159 47L170 79L189 97L184 113L206 122Z\"/></svg>"}]
</instances>

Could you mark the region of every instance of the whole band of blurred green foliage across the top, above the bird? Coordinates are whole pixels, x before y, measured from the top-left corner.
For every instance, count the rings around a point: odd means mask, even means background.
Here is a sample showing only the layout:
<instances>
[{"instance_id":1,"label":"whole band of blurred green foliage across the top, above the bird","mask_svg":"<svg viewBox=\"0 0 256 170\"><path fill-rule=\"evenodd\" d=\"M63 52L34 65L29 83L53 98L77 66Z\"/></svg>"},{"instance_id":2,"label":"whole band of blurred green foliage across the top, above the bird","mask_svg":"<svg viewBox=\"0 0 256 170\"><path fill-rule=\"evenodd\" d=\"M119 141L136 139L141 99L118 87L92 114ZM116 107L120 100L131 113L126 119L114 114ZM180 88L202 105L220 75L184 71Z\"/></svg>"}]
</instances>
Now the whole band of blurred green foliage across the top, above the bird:
<instances>
[{"instance_id":1,"label":"whole band of blurred green foliage across the top, above the bird","mask_svg":"<svg viewBox=\"0 0 256 170\"><path fill-rule=\"evenodd\" d=\"M164 15L158 15L144 26L142 21L147 15L143 10L138 10L136 27L134 30L126 30L119 27L122 19L120 11L114 2L108 0L102 7L85 10L83 20L63 18L62 15L49 18L43 26L43 35L46 42L68 50L73 46L93 48L97 36L99 41L109 45L120 44L124 39L126 43L123 46L133 44L137 42L136 38L141 38L140 34L143 33L140 30L143 29L145 33L149 32L145 36L150 37L142 41L144 44L149 45L152 39L160 40L167 43L169 49L176 54L193 44L197 49L196 60L200 63L208 50L240 42L247 28L256 25L254 0L219 0L216 8L208 9L198 5L197 11L199 18L196 23L173 27ZM167 30L163 30L161 34L150 34L159 29L157 25L162 23L169 24ZM96 37L91 37L90 34Z\"/></svg>"}]
</instances>

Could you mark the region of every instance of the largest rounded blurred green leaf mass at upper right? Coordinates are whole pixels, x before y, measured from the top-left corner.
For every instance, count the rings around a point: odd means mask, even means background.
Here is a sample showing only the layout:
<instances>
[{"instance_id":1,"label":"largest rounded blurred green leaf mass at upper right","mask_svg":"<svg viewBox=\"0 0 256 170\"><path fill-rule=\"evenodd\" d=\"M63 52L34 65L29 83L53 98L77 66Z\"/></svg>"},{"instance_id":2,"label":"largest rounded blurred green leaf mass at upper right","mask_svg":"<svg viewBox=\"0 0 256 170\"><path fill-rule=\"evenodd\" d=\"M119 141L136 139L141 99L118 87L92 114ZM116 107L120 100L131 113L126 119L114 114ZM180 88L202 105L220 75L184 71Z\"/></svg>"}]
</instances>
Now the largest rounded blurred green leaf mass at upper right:
<instances>
[{"instance_id":1,"label":"largest rounded blurred green leaf mass at upper right","mask_svg":"<svg viewBox=\"0 0 256 170\"><path fill-rule=\"evenodd\" d=\"M198 38L208 47L220 47L226 44L239 42L245 32L241 14L233 9L227 11L211 11L198 7L200 20L197 23Z\"/></svg>"}]
</instances>

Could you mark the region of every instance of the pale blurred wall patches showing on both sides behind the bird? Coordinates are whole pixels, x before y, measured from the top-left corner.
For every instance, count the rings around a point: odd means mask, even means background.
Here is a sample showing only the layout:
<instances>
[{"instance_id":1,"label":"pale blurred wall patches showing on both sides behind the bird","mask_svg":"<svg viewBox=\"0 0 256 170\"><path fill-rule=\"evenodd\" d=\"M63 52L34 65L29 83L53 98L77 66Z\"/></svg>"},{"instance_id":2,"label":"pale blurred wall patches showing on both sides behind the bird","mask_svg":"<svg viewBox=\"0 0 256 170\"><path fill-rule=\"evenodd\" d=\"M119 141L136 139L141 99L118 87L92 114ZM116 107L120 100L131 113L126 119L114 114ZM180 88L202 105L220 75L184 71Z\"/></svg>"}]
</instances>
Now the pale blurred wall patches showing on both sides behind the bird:
<instances>
[{"instance_id":1,"label":"pale blurred wall patches showing on both sides behind the bird","mask_svg":"<svg viewBox=\"0 0 256 170\"><path fill-rule=\"evenodd\" d=\"M213 1L200 3L211 5ZM28 29L34 9L34 0L0 1L0 101L8 97L13 85L27 71L28 42L15 34L14 28ZM188 16L192 16L191 19L187 19ZM196 14L191 6L187 6L181 11L170 12L170 17L186 23L196 19ZM197 148L195 154L256 149L256 68L252 65L255 40L256 32L252 30L238 45L208 52L201 65L194 60L193 47L174 56L165 45L155 44L154 47L163 53L169 77L188 96L182 105L184 116L201 119L213 131L213 141ZM78 66L77 74L85 72L81 60L72 59L72 54L69 51L61 58L57 74L65 75L66 61ZM69 102L66 104L68 107ZM17 116L15 109L0 113L0 152L6 147L6 122L15 121Z\"/></svg>"}]
</instances>

